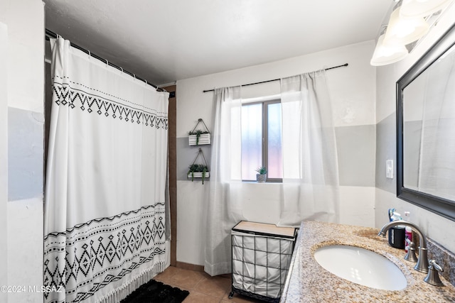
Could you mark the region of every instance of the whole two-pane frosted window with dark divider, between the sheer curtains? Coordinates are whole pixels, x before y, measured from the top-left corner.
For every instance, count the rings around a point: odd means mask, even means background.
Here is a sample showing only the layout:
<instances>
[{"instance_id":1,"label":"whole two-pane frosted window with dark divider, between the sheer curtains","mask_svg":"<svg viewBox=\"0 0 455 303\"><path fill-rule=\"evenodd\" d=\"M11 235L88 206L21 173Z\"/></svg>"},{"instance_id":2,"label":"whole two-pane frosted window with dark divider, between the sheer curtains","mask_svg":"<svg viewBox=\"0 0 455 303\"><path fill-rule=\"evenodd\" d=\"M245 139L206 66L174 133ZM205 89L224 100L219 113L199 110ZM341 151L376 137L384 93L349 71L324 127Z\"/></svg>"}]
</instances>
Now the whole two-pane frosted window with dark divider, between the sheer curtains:
<instances>
[{"instance_id":1,"label":"whole two-pane frosted window with dark divider, between the sheer curtains","mask_svg":"<svg viewBox=\"0 0 455 303\"><path fill-rule=\"evenodd\" d=\"M242 180L256 180L267 167L267 182L282 182L282 104L280 100L242 105Z\"/></svg>"}]
</instances>

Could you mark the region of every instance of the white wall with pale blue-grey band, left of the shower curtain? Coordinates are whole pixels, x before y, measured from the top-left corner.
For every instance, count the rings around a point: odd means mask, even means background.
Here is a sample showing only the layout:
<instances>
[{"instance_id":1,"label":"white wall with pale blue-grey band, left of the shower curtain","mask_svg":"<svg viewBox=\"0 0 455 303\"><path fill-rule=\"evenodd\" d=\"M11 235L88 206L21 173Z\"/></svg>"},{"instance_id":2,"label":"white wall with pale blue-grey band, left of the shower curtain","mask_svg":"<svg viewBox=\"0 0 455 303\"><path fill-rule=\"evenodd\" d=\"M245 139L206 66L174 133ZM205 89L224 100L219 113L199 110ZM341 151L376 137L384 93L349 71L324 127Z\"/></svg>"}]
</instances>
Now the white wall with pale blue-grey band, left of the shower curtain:
<instances>
[{"instance_id":1,"label":"white wall with pale blue-grey band, left of the shower curtain","mask_svg":"<svg viewBox=\"0 0 455 303\"><path fill-rule=\"evenodd\" d=\"M0 22L8 34L6 55L1 54L7 81L0 111L7 126L1 125L0 141L8 157L0 157L7 159L0 175L1 222L6 222L0 235L0 246L6 248L6 258L0 255L0 279L1 285L25 287L25 292L11 292L0 301L41 302L43 294L28 287L43 285L43 2L3 0ZM4 77L0 75L2 85Z\"/></svg>"}]
</instances>

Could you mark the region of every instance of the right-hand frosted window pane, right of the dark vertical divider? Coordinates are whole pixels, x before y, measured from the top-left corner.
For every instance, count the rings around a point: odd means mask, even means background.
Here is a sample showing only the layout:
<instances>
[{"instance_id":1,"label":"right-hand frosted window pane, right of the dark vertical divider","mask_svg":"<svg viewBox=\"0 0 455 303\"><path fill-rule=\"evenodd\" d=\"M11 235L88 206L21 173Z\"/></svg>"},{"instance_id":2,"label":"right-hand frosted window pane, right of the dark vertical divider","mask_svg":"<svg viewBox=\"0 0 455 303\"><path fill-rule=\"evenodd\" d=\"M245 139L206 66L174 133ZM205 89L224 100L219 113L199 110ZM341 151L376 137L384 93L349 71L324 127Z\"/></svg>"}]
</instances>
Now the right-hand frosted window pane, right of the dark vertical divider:
<instances>
[{"instance_id":1,"label":"right-hand frosted window pane, right of the dark vertical divider","mask_svg":"<svg viewBox=\"0 0 455 303\"><path fill-rule=\"evenodd\" d=\"M267 177L282 179L282 104L267 105Z\"/></svg>"}]
</instances>

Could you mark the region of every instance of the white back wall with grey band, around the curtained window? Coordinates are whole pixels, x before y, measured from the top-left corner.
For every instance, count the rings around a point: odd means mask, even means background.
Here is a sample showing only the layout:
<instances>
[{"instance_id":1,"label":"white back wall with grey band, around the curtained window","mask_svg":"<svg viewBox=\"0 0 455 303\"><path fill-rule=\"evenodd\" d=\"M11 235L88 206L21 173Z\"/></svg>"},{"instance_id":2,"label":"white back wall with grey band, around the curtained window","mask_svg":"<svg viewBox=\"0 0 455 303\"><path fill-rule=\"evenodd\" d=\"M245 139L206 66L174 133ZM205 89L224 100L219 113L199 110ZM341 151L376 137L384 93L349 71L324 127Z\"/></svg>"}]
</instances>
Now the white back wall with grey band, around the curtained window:
<instances>
[{"instance_id":1,"label":"white back wall with grey band, around the curtained window","mask_svg":"<svg viewBox=\"0 0 455 303\"><path fill-rule=\"evenodd\" d=\"M375 67L370 66L373 41L347 45L264 65L231 70L177 82L177 261L204 264L205 218L208 183L186 180L198 153L188 146L188 131L199 118L210 129L213 93L204 89L229 87L299 75L348 63L326 75L334 106L341 184L340 223L373 226L375 198ZM279 82L242 88L242 97L279 94ZM211 129L210 129L211 131ZM210 163L210 146L203 147ZM248 183L244 216L250 221L277 223L279 185Z\"/></svg>"}]
</instances>

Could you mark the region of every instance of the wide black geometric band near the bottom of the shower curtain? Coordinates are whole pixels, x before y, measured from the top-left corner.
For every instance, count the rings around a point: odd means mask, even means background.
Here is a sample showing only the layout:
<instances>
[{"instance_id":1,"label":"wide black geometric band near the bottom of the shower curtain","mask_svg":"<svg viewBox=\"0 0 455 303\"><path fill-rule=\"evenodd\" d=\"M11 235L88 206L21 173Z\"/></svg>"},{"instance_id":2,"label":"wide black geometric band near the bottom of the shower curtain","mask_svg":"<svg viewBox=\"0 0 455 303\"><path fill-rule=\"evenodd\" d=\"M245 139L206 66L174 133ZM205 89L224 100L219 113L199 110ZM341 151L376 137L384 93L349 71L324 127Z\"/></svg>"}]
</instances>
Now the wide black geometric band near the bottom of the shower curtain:
<instances>
[{"instance_id":1,"label":"wide black geometric band near the bottom of the shower curtain","mask_svg":"<svg viewBox=\"0 0 455 303\"><path fill-rule=\"evenodd\" d=\"M44 237L43 285L54 289L64 285L67 296L74 298L72 302L81 302L164 254L164 209L164 203L157 203L48 233ZM80 291L79 287L90 284L90 290ZM45 293L45 298L48 295Z\"/></svg>"}]
</instances>

